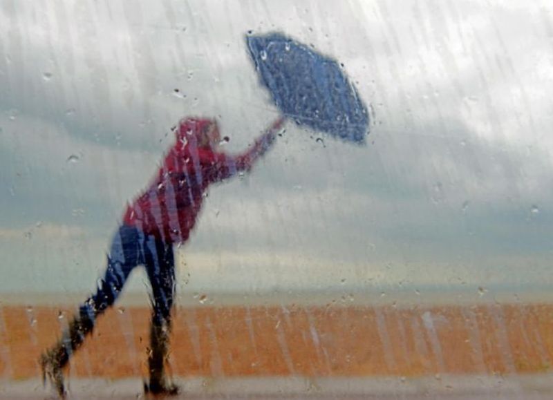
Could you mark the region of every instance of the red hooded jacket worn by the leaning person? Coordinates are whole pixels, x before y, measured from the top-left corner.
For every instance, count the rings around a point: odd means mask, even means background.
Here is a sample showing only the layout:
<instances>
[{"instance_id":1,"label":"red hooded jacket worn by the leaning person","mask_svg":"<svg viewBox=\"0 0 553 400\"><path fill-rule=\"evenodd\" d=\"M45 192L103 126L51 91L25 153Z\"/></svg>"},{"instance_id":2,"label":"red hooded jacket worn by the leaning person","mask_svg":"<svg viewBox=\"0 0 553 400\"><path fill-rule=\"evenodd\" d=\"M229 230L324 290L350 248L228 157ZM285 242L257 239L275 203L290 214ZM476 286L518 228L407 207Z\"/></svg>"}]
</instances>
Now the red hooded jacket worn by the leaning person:
<instances>
[{"instance_id":1,"label":"red hooded jacket worn by the leaning person","mask_svg":"<svg viewBox=\"0 0 553 400\"><path fill-rule=\"evenodd\" d=\"M123 223L142 229L165 242L184 242L196 222L209 184L247 171L270 147L274 132L261 135L241 155L199 147L198 132L210 120L189 118L176 129L176 144L165 156L149 187L129 204Z\"/></svg>"}]
</instances>

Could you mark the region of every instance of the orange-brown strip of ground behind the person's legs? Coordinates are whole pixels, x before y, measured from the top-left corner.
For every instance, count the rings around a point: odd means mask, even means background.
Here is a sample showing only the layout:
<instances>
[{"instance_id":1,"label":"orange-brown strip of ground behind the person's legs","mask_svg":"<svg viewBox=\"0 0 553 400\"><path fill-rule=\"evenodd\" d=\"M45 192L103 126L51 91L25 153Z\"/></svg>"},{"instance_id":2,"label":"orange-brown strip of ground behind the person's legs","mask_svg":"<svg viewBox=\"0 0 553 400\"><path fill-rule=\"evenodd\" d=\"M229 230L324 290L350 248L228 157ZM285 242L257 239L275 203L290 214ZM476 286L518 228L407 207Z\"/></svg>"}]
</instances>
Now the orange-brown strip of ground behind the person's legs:
<instances>
[{"instance_id":1,"label":"orange-brown strip of ground behind the person's legs","mask_svg":"<svg viewBox=\"0 0 553 400\"><path fill-rule=\"evenodd\" d=\"M201 300L201 299L200 299ZM435 377L546 373L552 303L465 305L180 305L171 339L179 377ZM0 307L0 379L39 376L37 357L66 326L70 307ZM70 374L146 376L149 308L100 318Z\"/></svg>"}]
</instances>

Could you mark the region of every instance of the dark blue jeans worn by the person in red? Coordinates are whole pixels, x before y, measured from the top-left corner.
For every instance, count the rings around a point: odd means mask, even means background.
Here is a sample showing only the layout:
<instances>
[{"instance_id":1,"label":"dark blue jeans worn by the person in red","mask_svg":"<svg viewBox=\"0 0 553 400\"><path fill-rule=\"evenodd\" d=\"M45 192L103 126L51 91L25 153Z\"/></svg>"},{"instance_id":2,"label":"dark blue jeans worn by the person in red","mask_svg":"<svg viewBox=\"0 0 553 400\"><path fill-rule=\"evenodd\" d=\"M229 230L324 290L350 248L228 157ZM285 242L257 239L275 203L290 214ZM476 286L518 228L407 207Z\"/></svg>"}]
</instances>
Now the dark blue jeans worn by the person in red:
<instances>
[{"instance_id":1,"label":"dark blue jeans worn by the person in red","mask_svg":"<svg viewBox=\"0 0 553 400\"><path fill-rule=\"evenodd\" d=\"M150 280L153 323L169 323L175 296L173 245L127 225L120 226L115 233L105 276L96 294L80 307L81 316L94 323L96 316L115 303L129 274L138 265L146 267Z\"/></svg>"}]
</instances>

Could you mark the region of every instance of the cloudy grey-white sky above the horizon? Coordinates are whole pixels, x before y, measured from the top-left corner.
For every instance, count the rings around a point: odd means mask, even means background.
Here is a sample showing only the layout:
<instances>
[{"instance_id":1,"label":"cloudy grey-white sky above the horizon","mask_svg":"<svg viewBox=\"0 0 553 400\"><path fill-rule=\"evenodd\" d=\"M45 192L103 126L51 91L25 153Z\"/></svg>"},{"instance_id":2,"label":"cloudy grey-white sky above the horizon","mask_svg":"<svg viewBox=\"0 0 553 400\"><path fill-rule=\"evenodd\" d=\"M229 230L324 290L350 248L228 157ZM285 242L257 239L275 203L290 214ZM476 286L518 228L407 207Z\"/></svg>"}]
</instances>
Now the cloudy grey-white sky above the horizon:
<instances>
[{"instance_id":1,"label":"cloudy grey-white sky above the horizon","mask_svg":"<svg viewBox=\"0 0 553 400\"><path fill-rule=\"evenodd\" d=\"M181 117L233 152L277 117L248 30L344 63L371 134L289 123L209 191L180 290L552 283L550 1L0 0L0 292L93 289Z\"/></svg>"}]
</instances>

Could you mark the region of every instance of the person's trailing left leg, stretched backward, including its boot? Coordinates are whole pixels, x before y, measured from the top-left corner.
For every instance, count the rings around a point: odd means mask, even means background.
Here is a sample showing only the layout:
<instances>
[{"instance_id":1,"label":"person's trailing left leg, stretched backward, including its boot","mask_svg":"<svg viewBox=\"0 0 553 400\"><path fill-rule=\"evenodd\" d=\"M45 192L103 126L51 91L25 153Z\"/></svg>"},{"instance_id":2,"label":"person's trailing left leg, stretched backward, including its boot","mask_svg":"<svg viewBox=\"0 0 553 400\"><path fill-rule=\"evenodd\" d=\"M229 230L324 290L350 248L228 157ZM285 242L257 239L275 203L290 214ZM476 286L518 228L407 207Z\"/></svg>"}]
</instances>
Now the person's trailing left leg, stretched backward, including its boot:
<instances>
[{"instance_id":1,"label":"person's trailing left leg, stretched backward, including its boot","mask_svg":"<svg viewBox=\"0 0 553 400\"><path fill-rule=\"evenodd\" d=\"M118 229L108 255L105 276L100 280L97 293L79 308L79 314L73 317L62 339L39 359L43 379L48 376L60 396L64 396L65 392L62 369L92 332L96 317L118 298L131 270L142 263L139 237L134 227L122 226Z\"/></svg>"}]
</instances>

